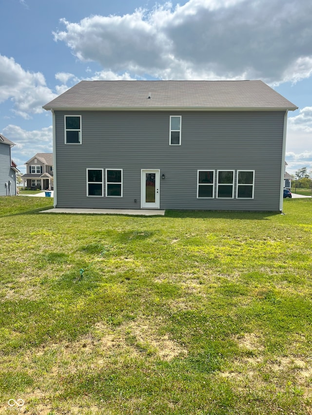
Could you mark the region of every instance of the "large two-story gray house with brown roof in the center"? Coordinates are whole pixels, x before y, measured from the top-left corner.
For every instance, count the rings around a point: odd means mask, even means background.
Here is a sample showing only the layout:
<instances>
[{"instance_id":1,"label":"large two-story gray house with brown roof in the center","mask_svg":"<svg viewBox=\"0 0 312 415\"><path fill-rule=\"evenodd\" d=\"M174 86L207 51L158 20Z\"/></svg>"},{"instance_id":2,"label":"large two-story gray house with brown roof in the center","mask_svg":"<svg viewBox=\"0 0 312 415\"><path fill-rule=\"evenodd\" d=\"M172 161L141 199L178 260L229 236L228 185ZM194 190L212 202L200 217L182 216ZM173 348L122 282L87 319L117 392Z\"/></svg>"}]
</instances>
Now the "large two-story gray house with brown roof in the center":
<instances>
[{"instance_id":1,"label":"large two-story gray house with brown roof in the center","mask_svg":"<svg viewBox=\"0 0 312 415\"><path fill-rule=\"evenodd\" d=\"M55 207L282 210L297 107L262 81L81 81L43 108Z\"/></svg>"}]
</instances>

